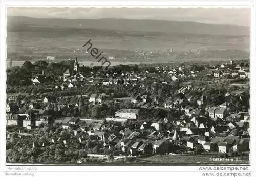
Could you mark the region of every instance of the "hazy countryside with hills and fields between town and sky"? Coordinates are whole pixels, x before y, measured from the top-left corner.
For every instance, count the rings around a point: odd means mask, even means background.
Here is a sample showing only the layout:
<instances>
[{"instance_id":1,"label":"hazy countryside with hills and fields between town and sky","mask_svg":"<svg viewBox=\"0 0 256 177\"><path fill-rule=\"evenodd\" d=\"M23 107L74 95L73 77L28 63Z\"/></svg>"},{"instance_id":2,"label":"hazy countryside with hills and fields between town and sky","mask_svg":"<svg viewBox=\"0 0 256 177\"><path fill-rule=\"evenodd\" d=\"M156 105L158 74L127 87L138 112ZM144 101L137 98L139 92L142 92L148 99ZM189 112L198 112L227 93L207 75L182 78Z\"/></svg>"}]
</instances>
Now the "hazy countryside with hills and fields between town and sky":
<instances>
[{"instance_id":1,"label":"hazy countryside with hills and fields between town and sky","mask_svg":"<svg viewBox=\"0 0 256 177\"><path fill-rule=\"evenodd\" d=\"M8 19L7 52L8 57L13 54L11 57L14 60L17 58L16 54L88 59L89 55L85 55L84 52L77 54L74 50L81 49L89 39L92 39L93 46L104 51L105 56L115 56L119 53L108 50L173 49L197 52L230 49L249 52L247 27L161 20L59 20L27 17ZM125 57L123 54L119 56ZM132 59L129 58L129 61L143 61L143 59ZM175 60L175 58L157 56L148 62Z\"/></svg>"}]
</instances>

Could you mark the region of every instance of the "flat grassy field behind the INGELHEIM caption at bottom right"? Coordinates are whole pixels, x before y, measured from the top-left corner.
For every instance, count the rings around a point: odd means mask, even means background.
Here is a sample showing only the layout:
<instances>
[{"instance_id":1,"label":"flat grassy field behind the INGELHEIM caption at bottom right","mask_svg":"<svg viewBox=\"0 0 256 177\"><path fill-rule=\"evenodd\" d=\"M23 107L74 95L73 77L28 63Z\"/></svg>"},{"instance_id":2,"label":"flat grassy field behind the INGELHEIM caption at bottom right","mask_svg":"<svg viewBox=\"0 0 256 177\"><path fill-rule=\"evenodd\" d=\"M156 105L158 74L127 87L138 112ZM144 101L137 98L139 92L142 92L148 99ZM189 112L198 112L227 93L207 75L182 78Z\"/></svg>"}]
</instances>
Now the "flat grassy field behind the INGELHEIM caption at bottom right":
<instances>
[{"instance_id":1,"label":"flat grassy field behind the INGELHEIM caption at bottom right","mask_svg":"<svg viewBox=\"0 0 256 177\"><path fill-rule=\"evenodd\" d=\"M168 164L248 164L249 160L238 160L228 158L228 161L212 161L210 156L193 156L193 155L154 155L151 157L141 158L144 163L168 163ZM231 161L233 160L233 162Z\"/></svg>"}]
</instances>

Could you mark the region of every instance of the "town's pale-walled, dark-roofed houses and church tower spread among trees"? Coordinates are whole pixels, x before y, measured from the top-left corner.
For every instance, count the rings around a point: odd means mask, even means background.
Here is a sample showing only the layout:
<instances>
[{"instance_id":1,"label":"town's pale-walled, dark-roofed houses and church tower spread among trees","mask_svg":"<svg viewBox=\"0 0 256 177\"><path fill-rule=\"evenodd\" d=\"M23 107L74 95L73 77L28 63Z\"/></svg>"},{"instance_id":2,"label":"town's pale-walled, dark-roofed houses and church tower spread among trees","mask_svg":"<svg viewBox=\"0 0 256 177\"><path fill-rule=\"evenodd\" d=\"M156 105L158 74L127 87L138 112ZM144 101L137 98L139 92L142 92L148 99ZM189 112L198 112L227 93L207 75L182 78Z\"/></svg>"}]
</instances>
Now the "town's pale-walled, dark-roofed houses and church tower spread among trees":
<instances>
[{"instance_id":1,"label":"town's pale-walled, dark-roofed houses and church tower spread among trees","mask_svg":"<svg viewBox=\"0 0 256 177\"><path fill-rule=\"evenodd\" d=\"M249 68L241 68L239 65L234 66L233 60L230 63L222 64L219 68L206 68L207 75L215 78L224 75L231 75L231 77L249 78ZM91 77L84 77L79 72L79 64L76 59L74 69L76 74L71 75L67 70L60 77L63 80L63 85L56 85L55 89L68 87L82 86L83 84L101 84L101 85L117 85L118 81L123 81L123 85L130 85L131 87L139 86L144 88L143 82L146 80L158 80L161 84L168 84L163 79L157 78L154 74L145 71L145 73L122 73L117 75L114 73L111 77L105 75L104 78L97 78L94 73ZM179 78L197 77L200 72L197 70L187 71L184 65L177 67L157 67L158 73L168 73L172 81L177 81ZM205 72L205 71L204 71ZM33 84L40 84L38 78L32 79ZM119 147L123 153L137 155L137 154L156 154L156 153L170 153L173 149L195 149L197 146L202 146L206 151L218 151L220 153L228 153L232 151L249 151L249 137L250 137L250 110L238 113L229 111L229 101L231 97L236 97L239 100L248 99L244 96L245 89L236 90L231 93L226 93L226 102L219 106L208 106L205 103L205 96L196 100L197 108L190 106L193 101L193 95L186 95L189 90L204 91L203 87L181 86L177 93L183 94L183 98L165 99L159 96L151 98L148 95L136 95L129 98L118 98L119 102L122 100L129 101L139 109L123 108L118 109L115 115L109 117L102 117L102 120L88 119L82 116L77 117L62 117L59 119L49 119L49 107L54 110L71 109L68 105L60 105L49 102L45 97L40 102L41 109L35 109L31 101L29 110L33 110L33 115L27 114L13 114L12 108L14 102L8 102L6 106L6 125L25 127L27 129L38 128L41 125L56 125L58 124L65 130L74 132L87 133L91 139L103 141L106 148ZM101 105L108 101L105 94L93 93L87 95L87 99L93 105ZM129 127L124 125L124 122L133 122L140 119L140 107L147 103L154 102L154 107L164 110L174 109L179 111L179 117L161 117L157 121L143 121L140 127ZM142 106L140 106L142 105ZM72 109L80 109L80 103L77 103ZM122 124L115 125L114 122L122 122ZM118 131L117 131L118 130ZM82 137L77 137L81 141ZM56 140L51 139L50 142ZM67 143L67 142L65 142Z\"/></svg>"}]
</instances>

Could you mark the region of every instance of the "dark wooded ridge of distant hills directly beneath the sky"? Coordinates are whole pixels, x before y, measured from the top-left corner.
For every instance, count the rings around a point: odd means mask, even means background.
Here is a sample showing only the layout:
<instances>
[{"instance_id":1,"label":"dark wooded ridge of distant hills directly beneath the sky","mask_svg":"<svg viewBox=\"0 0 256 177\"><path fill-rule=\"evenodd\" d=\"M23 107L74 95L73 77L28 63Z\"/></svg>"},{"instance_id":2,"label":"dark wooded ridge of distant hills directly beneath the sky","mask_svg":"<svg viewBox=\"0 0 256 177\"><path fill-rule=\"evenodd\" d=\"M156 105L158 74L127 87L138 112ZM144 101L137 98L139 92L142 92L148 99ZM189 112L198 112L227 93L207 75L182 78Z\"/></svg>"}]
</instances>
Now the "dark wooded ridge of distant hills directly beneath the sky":
<instances>
[{"instance_id":1,"label":"dark wooded ridge of distant hills directly beneath the sky","mask_svg":"<svg viewBox=\"0 0 256 177\"><path fill-rule=\"evenodd\" d=\"M9 32L27 31L29 29L82 29L103 31L126 31L145 33L196 34L249 36L250 28L245 26L205 24L187 21L134 20L134 19L54 19L31 18L23 16L7 17Z\"/></svg>"}]
</instances>

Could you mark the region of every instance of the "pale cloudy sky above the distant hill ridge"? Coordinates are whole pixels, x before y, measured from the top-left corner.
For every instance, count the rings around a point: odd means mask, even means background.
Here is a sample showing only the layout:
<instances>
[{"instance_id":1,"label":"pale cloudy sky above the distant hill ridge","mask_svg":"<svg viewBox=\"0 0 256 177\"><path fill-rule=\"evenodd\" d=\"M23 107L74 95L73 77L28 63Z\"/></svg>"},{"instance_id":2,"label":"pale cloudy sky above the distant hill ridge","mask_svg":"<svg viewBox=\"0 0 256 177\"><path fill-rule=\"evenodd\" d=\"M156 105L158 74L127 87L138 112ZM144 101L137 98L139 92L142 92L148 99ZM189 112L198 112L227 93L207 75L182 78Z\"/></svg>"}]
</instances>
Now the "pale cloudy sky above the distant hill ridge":
<instances>
[{"instance_id":1,"label":"pale cloudy sky above the distant hill ridge","mask_svg":"<svg viewBox=\"0 0 256 177\"><path fill-rule=\"evenodd\" d=\"M7 16L69 19L155 19L209 24L250 25L249 7L139 8L139 7L8 7Z\"/></svg>"}]
</instances>

